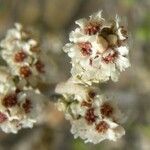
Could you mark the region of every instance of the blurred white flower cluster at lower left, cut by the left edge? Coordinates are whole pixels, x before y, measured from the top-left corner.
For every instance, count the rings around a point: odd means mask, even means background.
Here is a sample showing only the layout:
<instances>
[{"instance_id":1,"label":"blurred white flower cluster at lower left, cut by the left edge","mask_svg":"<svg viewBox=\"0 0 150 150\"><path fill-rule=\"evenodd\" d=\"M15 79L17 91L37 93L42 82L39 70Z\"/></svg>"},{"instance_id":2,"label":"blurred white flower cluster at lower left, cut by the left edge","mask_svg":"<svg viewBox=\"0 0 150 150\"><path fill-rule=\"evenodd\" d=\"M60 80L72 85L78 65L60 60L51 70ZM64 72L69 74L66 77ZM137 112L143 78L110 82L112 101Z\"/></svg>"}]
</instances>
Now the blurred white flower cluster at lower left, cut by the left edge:
<instances>
[{"instance_id":1,"label":"blurred white flower cluster at lower left, cut by the left edge","mask_svg":"<svg viewBox=\"0 0 150 150\"><path fill-rule=\"evenodd\" d=\"M31 128L45 106L44 96L31 88L19 89L7 67L0 68L0 128L17 133Z\"/></svg>"}]
</instances>

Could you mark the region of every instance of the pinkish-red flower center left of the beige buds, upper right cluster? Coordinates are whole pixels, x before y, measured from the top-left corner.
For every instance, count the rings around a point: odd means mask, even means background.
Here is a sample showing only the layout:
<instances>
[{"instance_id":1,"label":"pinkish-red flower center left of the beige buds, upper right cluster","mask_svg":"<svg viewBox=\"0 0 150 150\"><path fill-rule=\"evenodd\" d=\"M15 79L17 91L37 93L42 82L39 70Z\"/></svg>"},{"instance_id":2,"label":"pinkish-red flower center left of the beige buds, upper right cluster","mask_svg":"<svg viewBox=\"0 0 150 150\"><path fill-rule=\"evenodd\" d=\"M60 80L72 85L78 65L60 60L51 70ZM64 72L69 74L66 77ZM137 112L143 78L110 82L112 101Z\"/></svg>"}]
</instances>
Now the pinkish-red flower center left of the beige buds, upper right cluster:
<instances>
[{"instance_id":1,"label":"pinkish-red flower center left of the beige buds, upper right cluster","mask_svg":"<svg viewBox=\"0 0 150 150\"><path fill-rule=\"evenodd\" d=\"M83 54L83 56L88 56L91 55L92 53L92 45L90 42L82 42L82 43L78 43L79 47L81 48L81 53Z\"/></svg>"}]
</instances>

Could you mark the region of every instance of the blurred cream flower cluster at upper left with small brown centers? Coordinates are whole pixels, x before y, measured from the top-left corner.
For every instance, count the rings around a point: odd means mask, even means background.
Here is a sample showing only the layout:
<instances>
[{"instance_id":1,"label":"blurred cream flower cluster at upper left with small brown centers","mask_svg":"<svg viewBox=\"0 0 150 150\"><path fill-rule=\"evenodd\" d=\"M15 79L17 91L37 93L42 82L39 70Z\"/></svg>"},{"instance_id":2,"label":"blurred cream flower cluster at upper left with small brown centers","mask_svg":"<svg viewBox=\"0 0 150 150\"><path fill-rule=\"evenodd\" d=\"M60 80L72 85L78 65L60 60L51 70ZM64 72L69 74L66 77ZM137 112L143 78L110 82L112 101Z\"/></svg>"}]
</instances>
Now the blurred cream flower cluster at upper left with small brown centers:
<instances>
[{"instance_id":1,"label":"blurred cream flower cluster at upper left with small brown centers","mask_svg":"<svg viewBox=\"0 0 150 150\"><path fill-rule=\"evenodd\" d=\"M21 24L16 23L15 28L8 30L0 46L1 56L11 74L23 80L24 85L35 87L38 82L46 81L50 70L47 69L46 59L42 57L38 43L30 38L30 33Z\"/></svg>"}]
</instances>

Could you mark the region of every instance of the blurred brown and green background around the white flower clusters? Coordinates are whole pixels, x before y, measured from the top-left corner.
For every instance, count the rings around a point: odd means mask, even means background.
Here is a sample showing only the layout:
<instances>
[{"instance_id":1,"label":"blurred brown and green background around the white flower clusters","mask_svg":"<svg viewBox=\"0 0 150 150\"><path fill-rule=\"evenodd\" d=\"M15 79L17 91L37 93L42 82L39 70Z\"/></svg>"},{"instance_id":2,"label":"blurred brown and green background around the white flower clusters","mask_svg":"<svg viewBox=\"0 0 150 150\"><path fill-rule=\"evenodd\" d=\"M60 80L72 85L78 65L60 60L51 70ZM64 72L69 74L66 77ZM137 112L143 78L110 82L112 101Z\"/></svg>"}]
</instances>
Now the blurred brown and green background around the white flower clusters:
<instances>
[{"instance_id":1,"label":"blurred brown and green background around the white flower clusters","mask_svg":"<svg viewBox=\"0 0 150 150\"><path fill-rule=\"evenodd\" d=\"M62 51L74 21L103 10L118 14L128 26L132 66L117 83L103 84L126 114L126 135L117 142L84 144L73 139L70 124L52 103L41 124L18 134L0 131L0 150L150 150L150 0L0 0L0 39L14 22L33 32L51 62L49 93L70 76L70 59Z\"/></svg>"}]
</instances>

